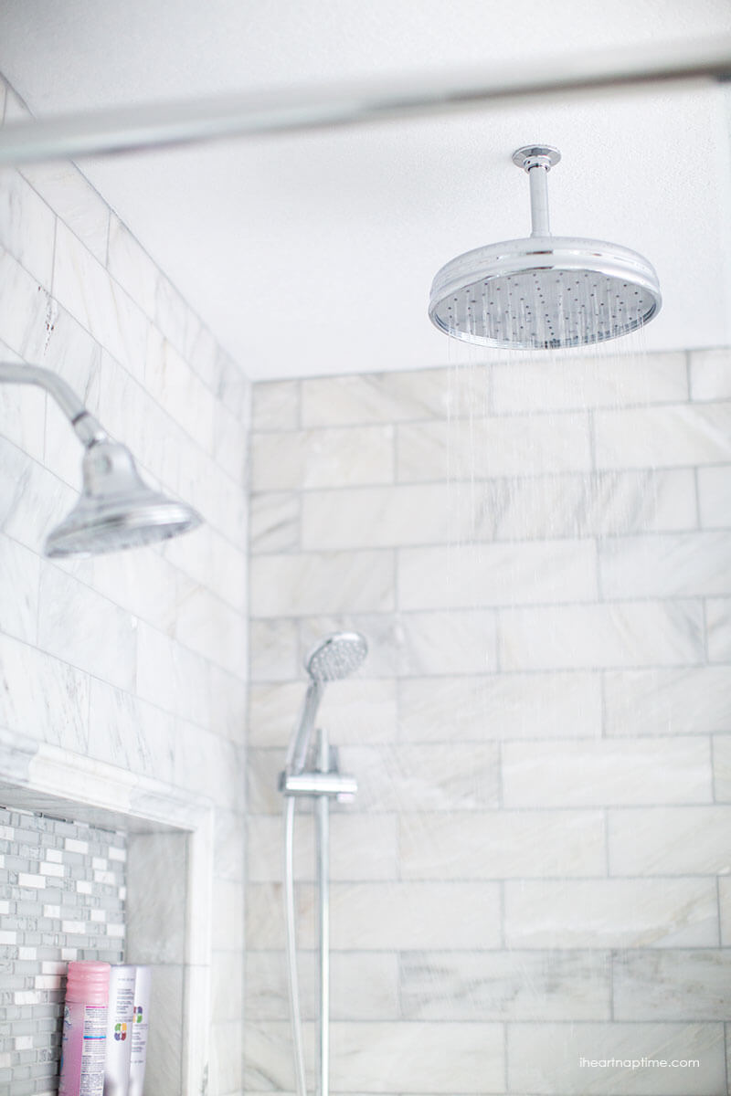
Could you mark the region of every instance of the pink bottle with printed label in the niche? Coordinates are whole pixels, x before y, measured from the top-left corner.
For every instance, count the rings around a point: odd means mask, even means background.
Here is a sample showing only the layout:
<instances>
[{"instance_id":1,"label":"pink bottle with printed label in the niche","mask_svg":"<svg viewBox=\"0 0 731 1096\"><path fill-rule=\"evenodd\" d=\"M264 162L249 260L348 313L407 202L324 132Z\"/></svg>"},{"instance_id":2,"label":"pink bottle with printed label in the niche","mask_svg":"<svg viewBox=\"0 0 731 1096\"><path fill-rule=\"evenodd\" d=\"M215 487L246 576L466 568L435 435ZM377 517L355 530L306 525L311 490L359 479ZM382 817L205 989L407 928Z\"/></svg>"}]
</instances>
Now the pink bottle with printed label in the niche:
<instances>
[{"instance_id":1,"label":"pink bottle with printed label in the niche","mask_svg":"<svg viewBox=\"0 0 731 1096\"><path fill-rule=\"evenodd\" d=\"M102 1096L110 970L107 962L69 963L58 1096Z\"/></svg>"}]
</instances>

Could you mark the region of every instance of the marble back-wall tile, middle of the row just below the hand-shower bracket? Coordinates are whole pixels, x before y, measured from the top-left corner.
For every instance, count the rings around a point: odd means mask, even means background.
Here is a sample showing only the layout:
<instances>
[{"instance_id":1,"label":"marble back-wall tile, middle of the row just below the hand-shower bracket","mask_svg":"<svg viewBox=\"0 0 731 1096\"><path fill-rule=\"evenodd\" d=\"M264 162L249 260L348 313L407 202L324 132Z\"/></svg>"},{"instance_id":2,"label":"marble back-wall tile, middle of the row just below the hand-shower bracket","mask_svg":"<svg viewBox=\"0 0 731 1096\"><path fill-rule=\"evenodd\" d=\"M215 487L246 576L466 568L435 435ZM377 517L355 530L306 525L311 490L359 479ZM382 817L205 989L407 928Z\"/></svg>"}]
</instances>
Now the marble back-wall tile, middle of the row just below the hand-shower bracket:
<instances>
[{"instance_id":1,"label":"marble back-wall tile, middle of the row just below the hand-shower bracket","mask_svg":"<svg viewBox=\"0 0 731 1096\"><path fill-rule=\"evenodd\" d=\"M541 879L605 875L601 811L402 814L407 879Z\"/></svg>"}]
</instances>

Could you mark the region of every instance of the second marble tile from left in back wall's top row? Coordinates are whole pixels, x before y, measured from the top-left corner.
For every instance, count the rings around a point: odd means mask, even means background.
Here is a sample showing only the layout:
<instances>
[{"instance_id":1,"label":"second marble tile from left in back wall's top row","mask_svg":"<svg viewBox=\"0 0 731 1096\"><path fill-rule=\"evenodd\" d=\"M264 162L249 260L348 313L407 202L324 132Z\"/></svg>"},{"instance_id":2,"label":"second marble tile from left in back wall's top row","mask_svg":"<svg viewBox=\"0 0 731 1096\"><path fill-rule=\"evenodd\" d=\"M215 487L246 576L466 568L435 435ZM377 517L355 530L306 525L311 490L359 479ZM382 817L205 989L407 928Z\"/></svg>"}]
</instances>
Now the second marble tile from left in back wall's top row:
<instances>
[{"instance_id":1,"label":"second marble tile from left in back wall's top row","mask_svg":"<svg viewBox=\"0 0 731 1096\"><path fill-rule=\"evenodd\" d=\"M445 419L449 411L447 369L370 373L302 380L302 426Z\"/></svg>"}]
</instances>

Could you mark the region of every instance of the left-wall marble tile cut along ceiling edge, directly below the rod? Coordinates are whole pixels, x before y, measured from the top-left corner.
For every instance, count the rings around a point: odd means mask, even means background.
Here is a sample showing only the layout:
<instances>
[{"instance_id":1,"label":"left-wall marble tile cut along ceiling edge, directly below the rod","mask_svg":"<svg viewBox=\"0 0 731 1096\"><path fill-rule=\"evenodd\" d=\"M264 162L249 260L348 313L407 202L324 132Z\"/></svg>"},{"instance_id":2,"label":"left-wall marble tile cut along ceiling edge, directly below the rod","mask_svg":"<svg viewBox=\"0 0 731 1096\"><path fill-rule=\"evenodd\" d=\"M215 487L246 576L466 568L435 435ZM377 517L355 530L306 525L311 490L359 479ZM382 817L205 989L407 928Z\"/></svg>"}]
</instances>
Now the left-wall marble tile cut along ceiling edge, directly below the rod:
<instances>
[{"instance_id":1,"label":"left-wall marble tile cut along ceiling edge, directly below the rod","mask_svg":"<svg viewBox=\"0 0 731 1096\"><path fill-rule=\"evenodd\" d=\"M110 208L76 164L26 164L23 174L100 263L105 263Z\"/></svg>"}]
</instances>

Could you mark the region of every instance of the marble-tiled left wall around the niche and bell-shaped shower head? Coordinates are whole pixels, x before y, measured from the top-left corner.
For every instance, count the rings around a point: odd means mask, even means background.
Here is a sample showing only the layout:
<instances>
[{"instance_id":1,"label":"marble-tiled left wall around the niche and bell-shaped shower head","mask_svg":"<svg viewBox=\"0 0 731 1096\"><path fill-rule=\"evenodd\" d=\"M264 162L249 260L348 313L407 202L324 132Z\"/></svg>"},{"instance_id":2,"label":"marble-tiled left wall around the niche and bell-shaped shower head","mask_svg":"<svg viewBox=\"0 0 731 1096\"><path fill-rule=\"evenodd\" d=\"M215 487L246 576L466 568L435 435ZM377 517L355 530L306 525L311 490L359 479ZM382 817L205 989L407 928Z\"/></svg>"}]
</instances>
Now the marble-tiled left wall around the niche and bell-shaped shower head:
<instances>
[{"instance_id":1,"label":"marble-tiled left wall around the niche and bell-shaped shower head","mask_svg":"<svg viewBox=\"0 0 731 1096\"><path fill-rule=\"evenodd\" d=\"M1 81L0 110L27 115ZM82 450L44 392L0 386L0 728L215 803L207 1084L238 1096L249 381L71 163L0 174L0 356L62 376L205 518L162 546L45 559Z\"/></svg>"}]
</instances>

